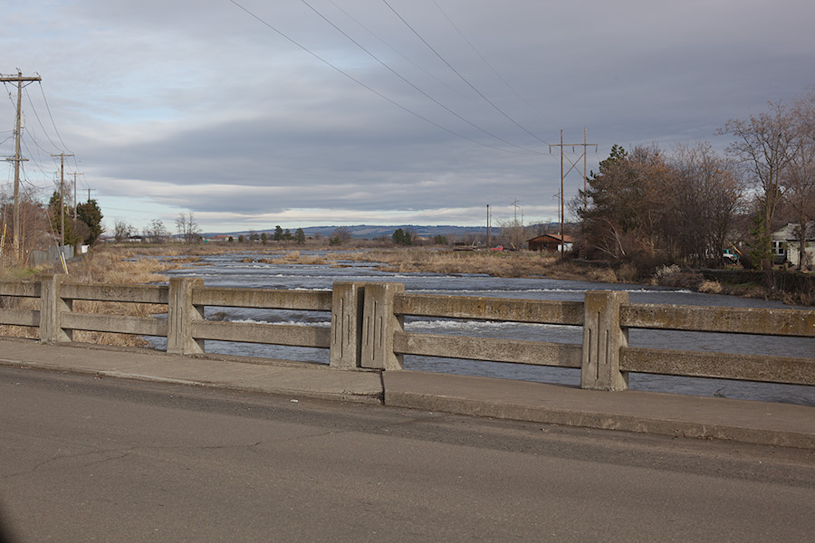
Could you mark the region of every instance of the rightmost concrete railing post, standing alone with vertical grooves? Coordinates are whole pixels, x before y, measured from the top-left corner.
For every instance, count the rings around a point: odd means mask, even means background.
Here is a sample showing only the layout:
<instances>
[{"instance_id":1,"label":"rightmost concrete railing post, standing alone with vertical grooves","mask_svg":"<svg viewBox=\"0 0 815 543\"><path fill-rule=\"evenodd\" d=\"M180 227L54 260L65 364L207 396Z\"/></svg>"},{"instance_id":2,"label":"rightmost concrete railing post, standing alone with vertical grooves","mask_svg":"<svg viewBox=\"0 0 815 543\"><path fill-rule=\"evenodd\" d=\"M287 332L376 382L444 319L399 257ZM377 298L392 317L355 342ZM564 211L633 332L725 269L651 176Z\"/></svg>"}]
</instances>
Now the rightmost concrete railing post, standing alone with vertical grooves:
<instances>
[{"instance_id":1,"label":"rightmost concrete railing post, standing alone with vertical grooves","mask_svg":"<svg viewBox=\"0 0 815 543\"><path fill-rule=\"evenodd\" d=\"M619 349L628 346L628 329L619 325L619 306L624 303L628 292L586 292L582 388L628 389L628 373L619 371Z\"/></svg>"}]
</instances>

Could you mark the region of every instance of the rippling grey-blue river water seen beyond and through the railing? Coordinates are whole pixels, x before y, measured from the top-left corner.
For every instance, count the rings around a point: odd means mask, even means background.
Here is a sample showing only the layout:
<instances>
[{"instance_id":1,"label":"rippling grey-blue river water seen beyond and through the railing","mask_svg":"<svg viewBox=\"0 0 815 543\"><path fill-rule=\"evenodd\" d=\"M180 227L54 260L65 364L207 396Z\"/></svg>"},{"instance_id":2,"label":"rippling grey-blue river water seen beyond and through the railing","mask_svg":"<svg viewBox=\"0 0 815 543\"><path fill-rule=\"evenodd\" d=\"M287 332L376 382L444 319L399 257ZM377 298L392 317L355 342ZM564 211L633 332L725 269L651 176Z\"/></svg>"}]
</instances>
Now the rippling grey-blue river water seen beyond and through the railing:
<instances>
[{"instance_id":1,"label":"rippling grey-blue river water seen beyond and through the railing","mask_svg":"<svg viewBox=\"0 0 815 543\"><path fill-rule=\"evenodd\" d=\"M303 257L322 256L324 252L301 252ZM341 253L334 253L340 254ZM581 301L587 290L628 291L632 303L669 303L723 307L758 307L790 309L781 302L746 300L732 296L642 285L560 281L546 278L494 278L483 274L392 273L376 270L371 262L340 261L326 264L242 262L252 258L268 258L251 252L216 254L203 257L203 262L189 268L168 271L170 276L200 277L207 287L240 287L305 291L331 290L334 281L401 282L405 290L415 293L450 294L458 296L489 296L528 300ZM332 256L332 258L334 258ZM341 256L340 256L341 258ZM327 313L284 310L252 310L239 308L206 308L207 319L255 321L309 326L330 326ZM496 323L475 320L408 318L405 328L433 334L497 337L582 342L580 327ZM157 348L163 340L151 338ZM733 353L767 354L790 357L813 357L815 339L769 338L750 335L681 332L670 330L631 329L629 344L633 347L656 347L688 350L716 350ZM328 351L317 348L288 348L273 345L206 341L206 351L248 357L328 363ZM405 367L474 376L494 376L523 379L570 386L580 385L580 371L558 367L529 367L484 361L437 357L405 357ZM748 383L722 379L652 376L631 374L629 387L636 390L670 392L688 395L720 395L762 401L790 402L815 405L815 387Z\"/></svg>"}]
</instances>

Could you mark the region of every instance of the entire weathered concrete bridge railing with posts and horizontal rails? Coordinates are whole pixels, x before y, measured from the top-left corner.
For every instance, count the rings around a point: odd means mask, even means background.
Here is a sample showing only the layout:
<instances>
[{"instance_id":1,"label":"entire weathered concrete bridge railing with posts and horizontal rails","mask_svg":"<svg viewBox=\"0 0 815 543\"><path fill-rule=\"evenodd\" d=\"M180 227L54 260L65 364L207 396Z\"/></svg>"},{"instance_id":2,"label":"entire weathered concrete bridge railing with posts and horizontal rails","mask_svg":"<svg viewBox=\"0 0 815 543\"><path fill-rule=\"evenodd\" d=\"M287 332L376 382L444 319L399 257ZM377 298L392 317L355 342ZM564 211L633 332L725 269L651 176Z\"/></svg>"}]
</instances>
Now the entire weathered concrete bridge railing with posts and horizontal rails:
<instances>
[{"instance_id":1,"label":"entire weathered concrete bridge railing with posts and horizontal rails","mask_svg":"<svg viewBox=\"0 0 815 543\"><path fill-rule=\"evenodd\" d=\"M0 306L0 325L34 327L44 343L70 342L74 330L167 338L171 354L205 352L207 339L327 348L331 367L398 370L405 355L489 360L580 369L583 388L623 390L628 372L705 376L815 386L815 358L771 357L628 346L628 329L671 329L815 338L815 310L764 310L632 304L628 293L589 291L584 301L510 300L411 294L400 283L335 282L332 291L205 287L176 278L168 286L88 285L53 275L0 282L0 296L39 300L39 309ZM74 301L160 304L167 318L73 310ZM221 322L206 307L331 313L331 329ZM406 316L483 319L582 328L582 344L409 332Z\"/></svg>"}]
</instances>

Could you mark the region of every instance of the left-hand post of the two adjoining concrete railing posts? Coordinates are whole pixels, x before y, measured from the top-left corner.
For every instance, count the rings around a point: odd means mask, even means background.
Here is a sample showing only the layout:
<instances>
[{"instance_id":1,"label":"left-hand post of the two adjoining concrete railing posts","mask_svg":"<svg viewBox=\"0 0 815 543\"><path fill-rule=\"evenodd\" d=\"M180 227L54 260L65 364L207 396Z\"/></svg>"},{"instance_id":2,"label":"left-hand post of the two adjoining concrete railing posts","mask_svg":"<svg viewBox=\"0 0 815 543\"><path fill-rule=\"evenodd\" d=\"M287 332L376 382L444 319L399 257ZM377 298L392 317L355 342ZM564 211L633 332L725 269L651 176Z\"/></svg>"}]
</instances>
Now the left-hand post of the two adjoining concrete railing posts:
<instances>
[{"instance_id":1,"label":"left-hand post of the two adjoining concrete railing posts","mask_svg":"<svg viewBox=\"0 0 815 543\"><path fill-rule=\"evenodd\" d=\"M331 367L360 367L365 286L335 282L331 292Z\"/></svg>"}]
</instances>

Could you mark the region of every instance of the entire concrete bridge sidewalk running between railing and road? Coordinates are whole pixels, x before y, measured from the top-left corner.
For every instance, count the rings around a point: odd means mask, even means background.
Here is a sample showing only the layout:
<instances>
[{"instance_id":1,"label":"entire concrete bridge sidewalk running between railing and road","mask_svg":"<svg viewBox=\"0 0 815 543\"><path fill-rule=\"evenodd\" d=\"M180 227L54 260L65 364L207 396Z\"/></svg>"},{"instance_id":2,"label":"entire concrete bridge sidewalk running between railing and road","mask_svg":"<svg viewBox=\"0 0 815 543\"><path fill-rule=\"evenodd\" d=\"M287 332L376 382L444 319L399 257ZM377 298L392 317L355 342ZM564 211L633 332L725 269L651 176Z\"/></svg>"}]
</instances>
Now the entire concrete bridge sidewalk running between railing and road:
<instances>
[{"instance_id":1,"label":"entire concrete bridge sidewalk running between railing and road","mask_svg":"<svg viewBox=\"0 0 815 543\"><path fill-rule=\"evenodd\" d=\"M282 361L254 364L16 339L0 339L0 365L815 450L815 408L805 405L599 392L414 371L342 371Z\"/></svg>"}]
</instances>

